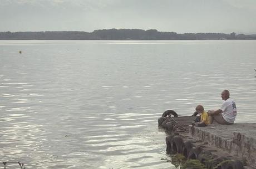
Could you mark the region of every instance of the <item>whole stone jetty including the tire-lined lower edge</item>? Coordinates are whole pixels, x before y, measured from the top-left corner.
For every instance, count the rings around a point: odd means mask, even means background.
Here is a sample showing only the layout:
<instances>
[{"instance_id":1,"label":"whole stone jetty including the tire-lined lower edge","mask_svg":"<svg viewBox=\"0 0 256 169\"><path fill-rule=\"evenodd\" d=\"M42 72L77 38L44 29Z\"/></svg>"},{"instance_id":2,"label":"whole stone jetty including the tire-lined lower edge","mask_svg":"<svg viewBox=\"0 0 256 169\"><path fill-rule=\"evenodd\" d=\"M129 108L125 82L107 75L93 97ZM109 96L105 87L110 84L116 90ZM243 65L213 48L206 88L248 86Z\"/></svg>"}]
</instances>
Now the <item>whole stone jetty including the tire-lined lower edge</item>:
<instances>
[{"instance_id":1,"label":"whole stone jetty including the tire-lined lower edge","mask_svg":"<svg viewBox=\"0 0 256 169\"><path fill-rule=\"evenodd\" d=\"M256 123L196 127L191 125L196 117L159 118L168 135L167 153L181 153L211 169L256 169Z\"/></svg>"}]
</instances>

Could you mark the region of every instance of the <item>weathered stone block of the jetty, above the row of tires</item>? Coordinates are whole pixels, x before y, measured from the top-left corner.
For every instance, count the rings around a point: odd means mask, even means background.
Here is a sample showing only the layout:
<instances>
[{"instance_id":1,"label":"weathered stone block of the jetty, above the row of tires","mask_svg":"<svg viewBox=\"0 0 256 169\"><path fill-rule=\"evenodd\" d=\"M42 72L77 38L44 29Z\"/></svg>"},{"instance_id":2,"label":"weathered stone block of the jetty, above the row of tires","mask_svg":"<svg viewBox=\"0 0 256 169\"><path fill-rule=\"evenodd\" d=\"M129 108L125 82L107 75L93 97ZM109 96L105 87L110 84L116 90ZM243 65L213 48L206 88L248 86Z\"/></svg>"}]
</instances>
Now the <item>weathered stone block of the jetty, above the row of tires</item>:
<instances>
[{"instance_id":1,"label":"weathered stone block of the jetty, above the row of tires","mask_svg":"<svg viewBox=\"0 0 256 169\"><path fill-rule=\"evenodd\" d=\"M256 168L256 123L212 124L206 127L190 125L189 132L194 138L245 159L248 166Z\"/></svg>"}]
</instances>

